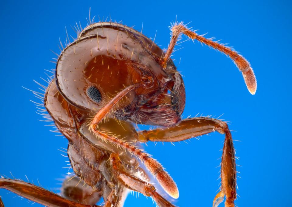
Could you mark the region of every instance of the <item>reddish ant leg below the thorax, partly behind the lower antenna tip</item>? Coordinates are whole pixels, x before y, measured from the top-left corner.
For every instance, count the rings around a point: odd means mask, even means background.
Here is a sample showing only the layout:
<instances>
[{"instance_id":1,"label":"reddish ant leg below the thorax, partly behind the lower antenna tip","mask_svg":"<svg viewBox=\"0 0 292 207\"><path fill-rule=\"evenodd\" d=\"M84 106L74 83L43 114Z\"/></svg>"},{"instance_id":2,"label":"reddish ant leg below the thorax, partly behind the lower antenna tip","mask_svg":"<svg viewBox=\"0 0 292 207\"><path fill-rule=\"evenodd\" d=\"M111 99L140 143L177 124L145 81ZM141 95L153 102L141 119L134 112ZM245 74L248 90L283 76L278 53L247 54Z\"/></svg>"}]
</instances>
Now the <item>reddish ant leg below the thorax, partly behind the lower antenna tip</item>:
<instances>
[{"instance_id":1,"label":"reddish ant leg below the thorax, partly behind the lower antenna tip","mask_svg":"<svg viewBox=\"0 0 292 207\"><path fill-rule=\"evenodd\" d=\"M127 188L140 192L145 196L151 196L159 207L175 207L169 201L159 195L153 185L129 174L129 172L124 168L118 154L110 154L110 163L113 167L113 174L116 176L117 180L123 183L123 185L125 185Z\"/></svg>"}]
</instances>

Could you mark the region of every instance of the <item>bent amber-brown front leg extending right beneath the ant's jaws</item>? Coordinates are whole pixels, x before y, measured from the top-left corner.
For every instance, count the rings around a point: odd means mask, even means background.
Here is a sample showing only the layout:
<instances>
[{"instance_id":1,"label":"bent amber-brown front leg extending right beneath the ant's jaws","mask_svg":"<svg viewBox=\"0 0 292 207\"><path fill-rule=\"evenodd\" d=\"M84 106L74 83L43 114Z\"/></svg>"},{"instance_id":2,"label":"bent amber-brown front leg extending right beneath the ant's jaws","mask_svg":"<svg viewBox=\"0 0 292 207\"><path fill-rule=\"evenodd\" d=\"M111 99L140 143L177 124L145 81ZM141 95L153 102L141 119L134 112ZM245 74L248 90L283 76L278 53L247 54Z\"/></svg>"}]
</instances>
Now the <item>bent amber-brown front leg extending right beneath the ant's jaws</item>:
<instances>
[{"instance_id":1,"label":"bent amber-brown front leg extending right beneath the ant's jaws","mask_svg":"<svg viewBox=\"0 0 292 207\"><path fill-rule=\"evenodd\" d=\"M236 199L235 150L226 122L207 117L184 119L175 126L141 131L139 141L177 142L214 131L225 133L225 141L221 160L221 191L214 198L213 206L217 207L225 195L225 207L233 207Z\"/></svg>"}]
</instances>

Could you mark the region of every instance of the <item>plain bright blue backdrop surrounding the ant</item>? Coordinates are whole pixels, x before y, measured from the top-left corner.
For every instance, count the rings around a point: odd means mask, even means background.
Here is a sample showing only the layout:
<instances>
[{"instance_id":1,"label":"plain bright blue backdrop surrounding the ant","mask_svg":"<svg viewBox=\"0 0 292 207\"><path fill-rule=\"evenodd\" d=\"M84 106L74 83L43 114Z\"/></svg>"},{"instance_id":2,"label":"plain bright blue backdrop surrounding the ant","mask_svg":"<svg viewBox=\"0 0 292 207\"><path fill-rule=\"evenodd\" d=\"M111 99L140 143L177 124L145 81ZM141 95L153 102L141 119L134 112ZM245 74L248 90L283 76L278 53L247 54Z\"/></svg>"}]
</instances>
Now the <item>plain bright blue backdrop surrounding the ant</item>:
<instances>
[{"instance_id":1,"label":"plain bright blue backdrop surrounding the ant","mask_svg":"<svg viewBox=\"0 0 292 207\"><path fill-rule=\"evenodd\" d=\"M57 149L67 140L54 136L45 122L37 121L36 100L26 88L37 90L32 79L46 77L44 69L58 52L65 26L86 18L109 15L134 26L166 48L170 22L188 23L205 37L229 43L250 61L258 81L255 95L249 94L242 75L232 61L215 50L186 41L174 53L184 76L186 108L195 116L224 115L231 121L238 174L238 206L290 206L291 201L291 4L289 1L2 1L1 21L1 142L0 174L30 181L58 192L59 179L67 173L65 157ZM96 18L98 20L98 18ZM183 37L183 40L186 40ZM176 47L178 49L179 47ZM179 64L179 60L180 64ZM218 189L219 164L224 136L212 133L172 146L148 143L145 149L158 159L176 181L177 206L211 206ZM30 206L0 190L5 206ZM34 204L34 206L39 206ZM152 206L152 200L128 195L125 207ZM223 206L221 204L220 206Z\"/></svg>"}]
</instances>

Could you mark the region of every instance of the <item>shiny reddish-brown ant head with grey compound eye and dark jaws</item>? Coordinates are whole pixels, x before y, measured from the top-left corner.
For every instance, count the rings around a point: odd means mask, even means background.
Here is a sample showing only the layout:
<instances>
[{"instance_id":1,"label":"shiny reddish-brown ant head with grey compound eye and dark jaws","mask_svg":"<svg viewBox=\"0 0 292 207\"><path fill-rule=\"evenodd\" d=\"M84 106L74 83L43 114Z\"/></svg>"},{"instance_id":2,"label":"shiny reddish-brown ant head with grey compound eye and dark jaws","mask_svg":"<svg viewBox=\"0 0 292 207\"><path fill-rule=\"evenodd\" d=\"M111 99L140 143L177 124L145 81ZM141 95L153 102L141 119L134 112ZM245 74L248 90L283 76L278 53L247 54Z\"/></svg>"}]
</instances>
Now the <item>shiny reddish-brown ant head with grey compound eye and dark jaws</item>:
<instances>
[{"instance_id":1,"label":"shiny reddish-brown ant head with grey compound eye and dark jaws","mask_svg":"<svg viewBox=\"0 0 292 207\"><path fill-rule=\"evenodd\" d=\"M57 61L56 83L77 108L97 112L125 87L140 84L116 107L120 119L169 126L180 120L185 90L171 59L153 41L124 25L85 28ZM167 116L167 121L165 121Z\"/></svg>"}]
</instances>

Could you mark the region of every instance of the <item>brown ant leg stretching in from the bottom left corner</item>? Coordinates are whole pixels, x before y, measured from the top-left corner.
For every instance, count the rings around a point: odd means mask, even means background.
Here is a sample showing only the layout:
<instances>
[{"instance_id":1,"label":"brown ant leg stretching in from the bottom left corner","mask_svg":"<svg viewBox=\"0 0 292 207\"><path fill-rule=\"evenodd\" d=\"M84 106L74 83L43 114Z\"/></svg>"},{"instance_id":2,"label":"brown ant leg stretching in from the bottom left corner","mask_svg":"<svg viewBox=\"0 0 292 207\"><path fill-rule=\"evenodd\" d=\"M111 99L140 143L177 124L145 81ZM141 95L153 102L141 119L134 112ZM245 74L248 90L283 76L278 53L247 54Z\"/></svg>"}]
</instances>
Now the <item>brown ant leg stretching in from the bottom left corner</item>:
<instances>
[{"instance_id":1,"label":"brown ant leg stretching in from the bottom left corner","mask_svg":"<svg viewBox=\"0 0 292 207\"><path fill-rule=\"evenodd\" d=\"M46 189L33 185L31 183L26 183L20 180L12 180L6 178L0 178L0 188L12 191L24 198L27 198L36 203L50 206L50 207L92 207L92 205L84 205L74 201L67 200L55 193L52 193ZM4 206L0 202L0 206ZM99 207L94 205L95 207Z\"/></svg>"}]
</instances>

